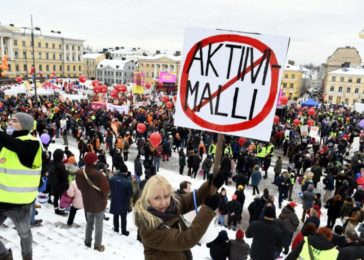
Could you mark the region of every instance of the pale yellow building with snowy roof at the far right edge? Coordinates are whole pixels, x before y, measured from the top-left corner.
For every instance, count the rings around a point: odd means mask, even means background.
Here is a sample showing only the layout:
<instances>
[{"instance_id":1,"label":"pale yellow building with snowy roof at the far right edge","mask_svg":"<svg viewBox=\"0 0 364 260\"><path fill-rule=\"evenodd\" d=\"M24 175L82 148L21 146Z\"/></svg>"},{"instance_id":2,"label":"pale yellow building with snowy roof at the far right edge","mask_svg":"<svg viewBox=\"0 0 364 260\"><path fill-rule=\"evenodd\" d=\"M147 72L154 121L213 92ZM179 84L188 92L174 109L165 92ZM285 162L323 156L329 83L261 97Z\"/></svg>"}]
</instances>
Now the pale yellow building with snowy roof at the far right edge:
<instances>
[{"instance_id":1,"label":"pale yellow building with snowy roof at the far right edge","mask_svg":"<svg viewBox=\"0 0 364 260\"><path fill-rule=\"evenodd\" d=\"M327 73L325 101L332 104L364 103L364 68L343 67Z\"/></svg>"}]
</instances>

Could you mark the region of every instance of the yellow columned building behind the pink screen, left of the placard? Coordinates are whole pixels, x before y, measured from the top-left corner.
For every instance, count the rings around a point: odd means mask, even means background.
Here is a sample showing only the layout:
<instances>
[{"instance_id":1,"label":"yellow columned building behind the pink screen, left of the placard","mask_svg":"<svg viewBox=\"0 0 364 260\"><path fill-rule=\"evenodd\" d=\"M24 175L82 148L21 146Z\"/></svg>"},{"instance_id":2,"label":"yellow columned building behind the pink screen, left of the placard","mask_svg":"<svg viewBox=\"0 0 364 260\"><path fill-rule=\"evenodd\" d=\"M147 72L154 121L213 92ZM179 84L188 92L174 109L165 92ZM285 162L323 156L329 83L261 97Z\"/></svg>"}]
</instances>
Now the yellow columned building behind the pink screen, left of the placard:
<instances>
[{"instance_id":1,"label":"yellow columned building behind the pink screen, left of the placard","mask_svg":"<svg viewBox=\"0 0 364 260\"><path fill-rule=\"evenodd\" d=\"M181 52L176 51L174 55L161 54L158 50L156 54L139 58L139 72L144 73L145 82L158 85L160 72L176 73L175 83L164 83L164 85L178 86L178 77L181 67Z\"/></svg>"}]
</instances>

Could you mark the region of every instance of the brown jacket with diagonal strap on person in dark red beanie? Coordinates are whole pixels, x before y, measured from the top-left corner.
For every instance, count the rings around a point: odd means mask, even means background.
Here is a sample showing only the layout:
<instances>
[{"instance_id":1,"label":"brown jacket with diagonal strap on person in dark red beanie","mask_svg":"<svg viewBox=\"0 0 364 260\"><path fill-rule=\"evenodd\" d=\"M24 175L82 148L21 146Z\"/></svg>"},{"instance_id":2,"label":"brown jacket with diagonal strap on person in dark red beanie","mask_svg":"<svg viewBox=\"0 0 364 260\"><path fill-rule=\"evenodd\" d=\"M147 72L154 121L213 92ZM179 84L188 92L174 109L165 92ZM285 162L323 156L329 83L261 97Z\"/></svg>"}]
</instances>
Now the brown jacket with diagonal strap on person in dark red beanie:
<instances>
[{"instance_id":1,"label":"brown jacket with diagonal strap on person in dark red beanie","mask_svg":"<svg viewBox=\"0 0 364 260\"><path fill-rule=\"evenodd\" d=\"M107 200L105 195L110 193L110 183L107 177L97 170L96 165L86 164L85 172L92 183L99 187L101 191L88 184L83 175L83 169L79 169L76 172L76 184L82 194L83 208L86 212L98 213L106 209Z\"/></svg>"}]
</instances>

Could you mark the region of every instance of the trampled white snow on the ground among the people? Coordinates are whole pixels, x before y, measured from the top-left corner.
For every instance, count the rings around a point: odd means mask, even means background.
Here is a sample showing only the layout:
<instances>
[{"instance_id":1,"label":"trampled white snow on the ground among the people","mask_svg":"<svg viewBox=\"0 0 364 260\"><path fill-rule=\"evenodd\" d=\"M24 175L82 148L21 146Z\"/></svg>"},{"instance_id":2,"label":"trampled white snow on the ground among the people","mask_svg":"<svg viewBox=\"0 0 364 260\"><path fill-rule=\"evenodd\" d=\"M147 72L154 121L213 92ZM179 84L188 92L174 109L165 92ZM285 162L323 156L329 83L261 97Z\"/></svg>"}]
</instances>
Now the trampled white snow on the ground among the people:
<instances>
[{"instance_id":1,"label":"trampled white snow on the ground among the people","mask_svg":"<svg viewBox=\"0 0 364 260\"><path fill-rule=\"evenodd\" d=\"M79 151L77 149L77 143L72 137L69 139L69 150L75 154L76 160L79 158ZM57 148L64 149L62 138L56 139L56 144L51 144L49 150L54 151ZM102 145L104 146L104 145ZM104 147L103 147L104 148ZM135 144L131 146L131 149L136 149ZM134 158L130 158L132 160ZM107 156L107 161L110 165L111 157ZM126 162L128 169L133 173L134 164L131 161ZM270 167L270 169L273 169ZM273 171L269 171L273 174ZM172 187L177 189L182 180L188 180L192 183L192 189L198 189L203 183L202 179L191 179L187 176L181 176L177 172L165 170L160 168L158 174L164 176L172 184ZM234 186L225 187L229 200L232 194L235 192ZM251 195L251 188L247 188L245 191L246 201L244 204L243 215L248 215L248 206L253 201L254 196ZM283 206L288 202L283 201ZM298 207L296 213L300 219L302 216L302 207L300 201L296 201ZM276 199L277 216L281 210L278 209L278 194ZM105 245L105 251L100 253L93 250L93 248L87 248L83 244L86 221L84 218L83 210L79 210L74 220L74 226L69 228L66 226L67 217L61 217L54 214L53 206L50 204L42 204L41 209L37 209L39 214L36 219L43 219L41 226L32 227L33 233L33 259L34 260L86 260L86 259L98 259L98 260L119 260L122 259L144 259L143 245L136 240L136 227L133 223L133 214L129 213L127 216L127 230L130 231L128 237L122 236L112 231L113 228L113 215L106 213L110 217L109 221L104 221L102 244ZM108 210L107 210L108 211ZM327 222L326 210L322 209L321 225L325 226ZM338 221L339 222L339 221ZM337 223L339 224L339 223ZM5 227L0 228L0 240L6 247L11 247L13 250L14 259L21 259L20 254L20 239L14 228L11 220L7 219L4 223ZM298 227L300 230L300 227ZM219 227L221 230L222 227ZM226 229L230 239L235 239L235 231ZM245 232L245 230L244 230ZM94 235L94 234L93 234ZM248 244L251 244L252 239L245 239ZM201 246L195 246L192 248L194 259L211 259L209 248L205 244Z\"/></svg>"}]
</instances>

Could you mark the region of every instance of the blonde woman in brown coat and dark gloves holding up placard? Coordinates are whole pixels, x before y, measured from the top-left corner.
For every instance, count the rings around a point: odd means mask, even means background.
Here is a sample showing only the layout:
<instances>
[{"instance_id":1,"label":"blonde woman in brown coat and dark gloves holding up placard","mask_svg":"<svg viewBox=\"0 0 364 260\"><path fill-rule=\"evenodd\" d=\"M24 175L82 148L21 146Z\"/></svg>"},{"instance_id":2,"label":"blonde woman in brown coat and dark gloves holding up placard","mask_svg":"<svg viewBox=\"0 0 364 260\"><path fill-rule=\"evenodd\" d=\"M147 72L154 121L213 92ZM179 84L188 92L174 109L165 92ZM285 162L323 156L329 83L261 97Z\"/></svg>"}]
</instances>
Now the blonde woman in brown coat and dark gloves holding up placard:
<instances>
[{"instance_id":1,"label":"blonde woman in brown coat and dark gloves holding up placard","mask_svg":"<svg viewBox=\"0 0 364 260\"><path fill-rule=\"evenodd\" d=\"M209 195L211 179L196 192L197 206L202 207L190 227L183 214L195 210L193 193L173 197L171 184L162 176L151 177L135 204L134 220L144 246L145 260L189 260L194 247L215 217L219 196ZM224 179L219 173L212 183L218 189Z\"/></svg>"}]
</instances>

